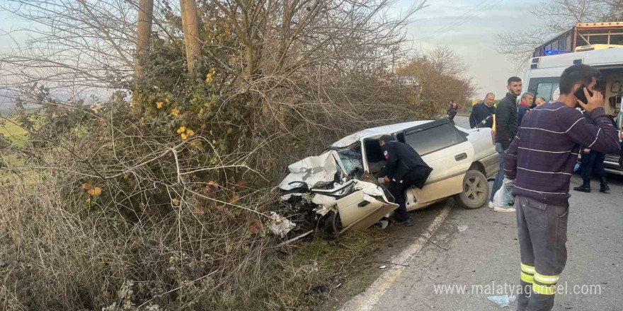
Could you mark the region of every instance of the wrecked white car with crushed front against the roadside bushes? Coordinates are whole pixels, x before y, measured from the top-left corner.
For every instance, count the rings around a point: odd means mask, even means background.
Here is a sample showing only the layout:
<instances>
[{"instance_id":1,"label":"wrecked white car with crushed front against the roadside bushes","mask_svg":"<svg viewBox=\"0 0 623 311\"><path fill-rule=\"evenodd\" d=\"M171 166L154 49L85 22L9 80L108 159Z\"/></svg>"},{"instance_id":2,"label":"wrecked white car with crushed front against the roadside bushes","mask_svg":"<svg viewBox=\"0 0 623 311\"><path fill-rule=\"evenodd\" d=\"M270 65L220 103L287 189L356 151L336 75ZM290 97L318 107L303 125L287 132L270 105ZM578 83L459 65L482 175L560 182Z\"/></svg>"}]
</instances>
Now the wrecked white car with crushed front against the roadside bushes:
<instances>
[{"instance_id":1,"label":"wrecked white car with crushed front against the roadside bushes","mask_svg":"<svg viewBox=\"0 0 623 311\"><path fill-rule=\"evenodd\" d=\"M378 182L385 176L379 145L385 134L411 145L433 168L423 189L406 191L408 211L450 196L467 209L486 204L487 177L499 169L493 131L463 129L447 120L392 124L346 136L321 155L290 165L279 185L281 199L307 217L323 218L335 233L377 223L398 208Z\"/></svg>"}]
</instances>

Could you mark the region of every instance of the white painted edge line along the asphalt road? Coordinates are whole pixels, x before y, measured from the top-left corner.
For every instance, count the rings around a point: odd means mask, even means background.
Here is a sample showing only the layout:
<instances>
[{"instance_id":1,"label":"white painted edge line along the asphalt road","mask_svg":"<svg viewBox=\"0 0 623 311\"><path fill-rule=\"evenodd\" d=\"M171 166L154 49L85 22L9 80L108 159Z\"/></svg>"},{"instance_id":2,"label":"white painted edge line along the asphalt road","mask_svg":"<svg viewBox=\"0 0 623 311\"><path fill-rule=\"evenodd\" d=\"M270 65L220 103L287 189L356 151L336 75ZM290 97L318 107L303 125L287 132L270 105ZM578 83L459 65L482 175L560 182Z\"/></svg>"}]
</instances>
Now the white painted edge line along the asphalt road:
<instances>
[{"instance_id":1,"label":"white painted edge line along the asphalt road","mask_svg":"<svg viewBox=\"0 0 623 311\"><path fill-rule=\"evenodd\" d=\"M437 217L433 220L433 223L428 225L428 228L422 233L425 237L432 237L437 229L441 226L445 218L452 210L450 204L446 204L440 211ZM356 295L355 298L345 303L340 311L370 311L379 302L384 293L391 288L392 285L398 280L401 274L404 272L411 259L422 250L422 247L426 245L424 237L418 237L416 242L413 242L406 250L402 251L398 256L391 259L393 265L389 266L387 271L384 271L365 292Z\"/></svg>"}]
</instances>

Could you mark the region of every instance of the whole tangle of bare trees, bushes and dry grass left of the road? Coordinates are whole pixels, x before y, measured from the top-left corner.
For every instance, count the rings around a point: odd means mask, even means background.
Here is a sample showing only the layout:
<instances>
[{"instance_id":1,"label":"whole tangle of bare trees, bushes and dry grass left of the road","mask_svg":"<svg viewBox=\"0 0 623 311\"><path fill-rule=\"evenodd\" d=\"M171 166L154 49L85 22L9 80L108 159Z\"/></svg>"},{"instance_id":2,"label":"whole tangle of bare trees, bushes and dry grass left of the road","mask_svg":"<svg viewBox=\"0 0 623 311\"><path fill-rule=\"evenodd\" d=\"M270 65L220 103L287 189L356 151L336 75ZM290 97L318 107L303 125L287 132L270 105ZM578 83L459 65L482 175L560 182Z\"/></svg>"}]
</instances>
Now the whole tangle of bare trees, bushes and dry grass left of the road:
<instances>
[{"instance_id":1,"label":"whole tangle of bare trees, bushes and dry grass left of the road","mask_svg":"<svg viewBox=\"0 0 623 311\"><path fill-rule=\"evenodd\" d=\"M471 81L400 49L423 1L403 16L377 0L156 1L145 20L149 2L3 4L38 25L0 55L20 112L0 124L5 310L313 308L384 233L280 246L301 233L270 233L271 212L297 213L273 189L286 166L440 115L433 83L456 81L458 101ZM440 78L401 83L396 60Z\"/></svg>"}]
</instances>

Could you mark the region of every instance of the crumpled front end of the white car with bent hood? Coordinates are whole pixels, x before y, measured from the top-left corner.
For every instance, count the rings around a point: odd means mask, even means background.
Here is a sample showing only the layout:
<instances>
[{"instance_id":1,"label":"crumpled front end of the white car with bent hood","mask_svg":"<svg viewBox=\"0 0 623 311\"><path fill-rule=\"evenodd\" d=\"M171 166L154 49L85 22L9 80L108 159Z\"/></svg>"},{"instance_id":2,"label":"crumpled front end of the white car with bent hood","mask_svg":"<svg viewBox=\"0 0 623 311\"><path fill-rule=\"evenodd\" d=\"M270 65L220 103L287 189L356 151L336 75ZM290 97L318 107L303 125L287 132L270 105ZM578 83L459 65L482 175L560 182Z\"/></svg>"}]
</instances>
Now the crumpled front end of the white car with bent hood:
<instances>
[{"instance_id":1,"label":"crumpled front end of the white car with bent hood","mask_svg":"<svg viewBox=\"0 0 623 311\"><path fill-rule=\"evenodd\" d=\"M281 199L307 221L323 221L334 233L365 230L398 208L365 174L361 148L328 150L288 166Z\"/></svg>"}]
</instances>

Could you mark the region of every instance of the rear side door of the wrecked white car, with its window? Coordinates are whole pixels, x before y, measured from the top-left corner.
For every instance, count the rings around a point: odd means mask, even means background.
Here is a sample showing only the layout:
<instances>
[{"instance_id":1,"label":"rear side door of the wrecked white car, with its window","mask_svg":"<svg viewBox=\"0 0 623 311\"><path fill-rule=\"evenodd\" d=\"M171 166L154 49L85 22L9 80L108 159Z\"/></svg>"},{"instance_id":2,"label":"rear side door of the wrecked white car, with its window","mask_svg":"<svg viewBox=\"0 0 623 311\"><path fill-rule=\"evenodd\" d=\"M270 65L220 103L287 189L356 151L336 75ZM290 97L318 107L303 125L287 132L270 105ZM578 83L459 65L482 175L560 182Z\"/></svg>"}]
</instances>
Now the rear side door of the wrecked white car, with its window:
<instances>
[{"instance_id":1,"label":"rear side door of the wrecked white car, with its window","mask_svg":"<svg viewBox=\"0 0 623 311\"><path fill-rule=\"evenodd\" d=\"M408 190L407 208L416 209L463 191L463 178L474 159L474 147L464 133L441 120L407 129L399 137L433 168L423 189Z\"/></svg>"}]
</instances>

